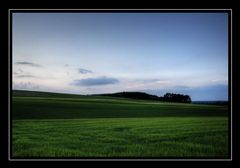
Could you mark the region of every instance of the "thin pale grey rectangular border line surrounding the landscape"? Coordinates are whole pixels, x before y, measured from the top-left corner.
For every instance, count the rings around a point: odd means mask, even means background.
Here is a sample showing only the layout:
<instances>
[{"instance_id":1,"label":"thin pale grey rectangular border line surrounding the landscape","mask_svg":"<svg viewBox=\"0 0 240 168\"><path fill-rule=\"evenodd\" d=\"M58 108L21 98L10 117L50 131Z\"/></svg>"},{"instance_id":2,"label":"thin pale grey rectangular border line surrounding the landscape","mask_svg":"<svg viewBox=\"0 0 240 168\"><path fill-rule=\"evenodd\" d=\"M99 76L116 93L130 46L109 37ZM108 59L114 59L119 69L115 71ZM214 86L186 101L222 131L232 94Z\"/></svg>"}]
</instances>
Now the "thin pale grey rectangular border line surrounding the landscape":
<instances>
[{"instance_id":1,"label":"thin pale grey rectangular border line surrounding the landscape","mask_svg":"<svg viewBox=\"0 0 240 168\"><path fill-rule=\"evenodd\" d=\"M34 10L37 10L37 11L59 11L59 13L61 13L60 11L89 11L89 10L92 10L92 11L159 11L159 13L161 11L186 11L186 13L190 13L191 11L230 11L230 15L231 15L231 30L228 30L231 31L231 37L230 37L230 40L231 40L231 46L230 46L230 57L231 57L231 107L230 107L230 110L231 110L231 158L230 159L52 159L52 158L49 158L49 159L11 159L11 142L10 142L10 134L11 134L11 125L10 125L10 93L11 93L11 87L10 87L10 65L12 64L12 62L10 62L10 58L11 58L11 55L10 55L10 51L11 51L11 41L10 41L10 38L11 38L11 31L10 30L10 26L11 26L11 11L13 12L17 12L17 11L26 11L27 13L27 10L29 10L29 13L31 13L31 11L34 11ZM190 12L188 12L190 11ZM69 12L70 13L70 12ZM203 12L204 13L204 12ZM229 26L229 20L228 20L228 26ZM229 28L229 27L228 27ZM228 33L229 35L229 33ZM229 40L229 37L228 37L228 40ZM9 161L232 161L232 9L9 9L8 10L8 160ZM229 41L228 41L228 44L229 44ZM228 48L228 54L229 54L229 48ZM228 55L228 58L229 58L229 55ZM229 68L229 67L228 67ZM228 98L229 100L229 98Z\"/></svg>"}]
</instances>

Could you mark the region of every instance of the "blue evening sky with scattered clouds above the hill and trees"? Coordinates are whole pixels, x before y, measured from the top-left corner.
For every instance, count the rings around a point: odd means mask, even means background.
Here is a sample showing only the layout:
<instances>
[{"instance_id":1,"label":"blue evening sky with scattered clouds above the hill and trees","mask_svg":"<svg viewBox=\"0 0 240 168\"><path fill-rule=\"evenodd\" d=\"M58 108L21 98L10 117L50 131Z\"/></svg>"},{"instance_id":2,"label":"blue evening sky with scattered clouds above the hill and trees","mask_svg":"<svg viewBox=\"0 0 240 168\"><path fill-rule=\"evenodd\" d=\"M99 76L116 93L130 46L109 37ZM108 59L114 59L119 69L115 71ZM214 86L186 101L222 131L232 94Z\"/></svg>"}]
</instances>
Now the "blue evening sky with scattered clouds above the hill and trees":
<instances>
[{"instance_id":1,"label":"blue evening sky with scattered clouds above the hill and trees","mask_svg":"<svg viewBox=\"0 0 240 168\"><path fill-rule=\"evenodd\" d=\"M13 13L12 87L228 100L228 14Z\"/></svg>"}]
</instances>

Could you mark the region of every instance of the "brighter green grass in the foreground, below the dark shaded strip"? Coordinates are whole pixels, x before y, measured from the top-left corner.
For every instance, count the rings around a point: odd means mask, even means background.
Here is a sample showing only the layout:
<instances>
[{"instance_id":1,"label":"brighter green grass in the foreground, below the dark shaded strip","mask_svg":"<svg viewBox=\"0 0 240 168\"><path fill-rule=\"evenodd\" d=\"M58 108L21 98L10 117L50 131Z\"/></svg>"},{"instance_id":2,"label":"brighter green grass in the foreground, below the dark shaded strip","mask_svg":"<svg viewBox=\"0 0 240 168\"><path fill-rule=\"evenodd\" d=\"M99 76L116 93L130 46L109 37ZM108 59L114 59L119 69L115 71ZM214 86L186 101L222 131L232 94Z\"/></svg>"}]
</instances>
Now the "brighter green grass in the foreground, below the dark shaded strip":
<instances>
[{"instance_id":1,"label":"brighter green grass in the foreground, below the dark shaded strip","mask_svg":"<svg viewBox=\"0 0 240 168\"><path fill-rule=\"evenodd\" d=\"M13 157L227 157L227 117L13 121Z\"/></svg>"}]
</instances>

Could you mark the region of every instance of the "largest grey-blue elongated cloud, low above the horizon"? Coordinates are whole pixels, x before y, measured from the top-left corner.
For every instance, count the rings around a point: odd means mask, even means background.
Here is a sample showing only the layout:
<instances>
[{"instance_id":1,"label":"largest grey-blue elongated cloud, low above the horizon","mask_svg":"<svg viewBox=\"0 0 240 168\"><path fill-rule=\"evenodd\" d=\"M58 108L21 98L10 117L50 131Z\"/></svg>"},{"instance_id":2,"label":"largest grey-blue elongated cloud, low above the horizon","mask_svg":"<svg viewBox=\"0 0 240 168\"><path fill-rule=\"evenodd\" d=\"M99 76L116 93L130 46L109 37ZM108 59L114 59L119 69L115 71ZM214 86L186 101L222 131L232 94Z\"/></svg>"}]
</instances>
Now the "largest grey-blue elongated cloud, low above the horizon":
<instances>
[{"instance_id":1,"label":"largest grey-blue elongated cloud, low above the horizon","mask_svg":"<svg viewBox=\"0 0 240 168\"><path fill-rule=\"evenodd\" d=\"M108 85L118 83L119 80L110 77L98 77L98 78L86 78L73 81L73 85L76 86L96 86L96 85Z\"/></svg>"}]
</instances>

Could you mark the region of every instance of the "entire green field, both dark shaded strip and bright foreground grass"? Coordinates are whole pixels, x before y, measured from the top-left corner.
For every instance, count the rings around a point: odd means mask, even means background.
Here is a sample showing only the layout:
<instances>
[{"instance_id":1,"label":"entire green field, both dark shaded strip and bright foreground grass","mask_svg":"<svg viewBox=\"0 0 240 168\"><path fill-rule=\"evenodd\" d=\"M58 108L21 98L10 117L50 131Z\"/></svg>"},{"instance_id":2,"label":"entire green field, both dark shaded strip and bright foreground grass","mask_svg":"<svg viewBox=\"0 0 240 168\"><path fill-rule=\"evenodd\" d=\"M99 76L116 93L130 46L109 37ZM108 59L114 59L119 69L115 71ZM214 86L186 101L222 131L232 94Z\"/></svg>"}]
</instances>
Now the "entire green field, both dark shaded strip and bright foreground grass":
<instances>
[{"instance_id":1,"label":"entire green field, both dark shaded strip and bright foreground grass","mask_svg":"<svg viewBox=\"0 0 240 168\"><path fill-rule=\"evenodd\" d=\"M14 91L13 157L227 158L228 108Z\"/></svg>"}]
</instances>

